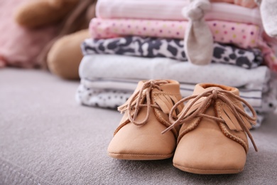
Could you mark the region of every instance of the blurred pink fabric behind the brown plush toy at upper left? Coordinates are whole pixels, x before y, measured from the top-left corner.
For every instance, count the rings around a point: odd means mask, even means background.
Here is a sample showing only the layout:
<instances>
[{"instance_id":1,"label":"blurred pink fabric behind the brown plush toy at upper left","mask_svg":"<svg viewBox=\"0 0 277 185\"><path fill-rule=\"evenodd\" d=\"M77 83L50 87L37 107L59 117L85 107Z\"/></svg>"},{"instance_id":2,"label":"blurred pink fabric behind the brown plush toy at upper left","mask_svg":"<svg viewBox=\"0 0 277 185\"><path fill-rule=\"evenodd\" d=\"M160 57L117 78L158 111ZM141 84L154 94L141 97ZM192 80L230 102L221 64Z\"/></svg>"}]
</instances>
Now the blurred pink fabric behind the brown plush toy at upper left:
<instances>
[{"instance_id":1,"label":"blurred pink fabric behind the brown plush toy at upper left","mask_svg":"<svg viewBox=\"0 0 277 185\"><path fill-rule=\"evenodd\" d=\"M36 57L55 36L55 26L28 30L13 21L13 10L26 0L0 1L0 66L33 68Z\"/></svg>"}]
</instances>

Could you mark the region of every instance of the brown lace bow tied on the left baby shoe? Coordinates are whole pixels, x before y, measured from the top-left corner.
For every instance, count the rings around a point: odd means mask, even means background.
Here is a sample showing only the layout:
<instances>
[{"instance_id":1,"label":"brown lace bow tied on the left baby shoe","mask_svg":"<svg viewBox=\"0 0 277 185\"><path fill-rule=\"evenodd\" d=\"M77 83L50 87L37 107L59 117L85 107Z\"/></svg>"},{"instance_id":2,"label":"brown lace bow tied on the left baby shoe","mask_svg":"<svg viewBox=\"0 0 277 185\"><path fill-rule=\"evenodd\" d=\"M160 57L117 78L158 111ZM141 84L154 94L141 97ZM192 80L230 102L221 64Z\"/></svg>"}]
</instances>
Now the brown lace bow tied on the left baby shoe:
<instances>
[{"instance_id":1,"label":"brown lace bow tied on the left baby shoe","mask_svg":"<svg viewBox=\"0 0 277 185\"><path fill-rule=\"evenodd\" d=\"M160 85L166 84L168 81L166 80L148 80L146 81L142 88L133 96L131 97L131 100L127 105L123 105L119 107L120 112L124 112L125 110L127 111L128 118L130 122L134 123L134 125L144 125L146 124L149 115L150 115L150 110L151 107L160 109L158 105L151 105L151 90L153 88L157 88L158 90L161 90ZM146 98L146 104L143 104L144 100ZM135 102L136 101L136 102ZM139 109L141 107L147 107L147 113L146 117L144 120L141 122L136 121L136 117L138 116ZM134 110L134 113L132 112Z\"/></svg>"}]
</instances>

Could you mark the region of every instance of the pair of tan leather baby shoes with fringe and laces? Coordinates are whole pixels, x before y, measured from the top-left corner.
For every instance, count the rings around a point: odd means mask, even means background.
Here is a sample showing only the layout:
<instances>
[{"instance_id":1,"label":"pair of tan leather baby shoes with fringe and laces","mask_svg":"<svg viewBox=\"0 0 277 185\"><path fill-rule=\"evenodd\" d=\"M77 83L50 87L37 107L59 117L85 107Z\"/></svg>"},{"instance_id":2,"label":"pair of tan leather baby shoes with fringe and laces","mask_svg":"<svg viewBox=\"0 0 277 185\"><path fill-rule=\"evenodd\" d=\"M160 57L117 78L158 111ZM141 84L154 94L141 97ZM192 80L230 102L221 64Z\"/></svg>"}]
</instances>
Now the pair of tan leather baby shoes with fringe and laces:
<instances>
[{"instance_id":1,"label":"pair of tan leather baby shoes with fringe and laces","mask_svg":"<svg viewBox=\"0 0 277 185\"><path fill-rule=\"evenodd\" d=\"M201 83L182 99L177 81L146 80L119 110L124 116L108 147L116 159L173 157L173 166L183 171L235 174L244 169L247 135L254 144L249 129L256 112L237 88Z\"/></svg>"}]
</instances>

